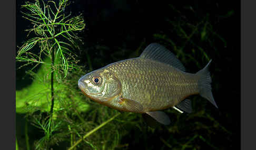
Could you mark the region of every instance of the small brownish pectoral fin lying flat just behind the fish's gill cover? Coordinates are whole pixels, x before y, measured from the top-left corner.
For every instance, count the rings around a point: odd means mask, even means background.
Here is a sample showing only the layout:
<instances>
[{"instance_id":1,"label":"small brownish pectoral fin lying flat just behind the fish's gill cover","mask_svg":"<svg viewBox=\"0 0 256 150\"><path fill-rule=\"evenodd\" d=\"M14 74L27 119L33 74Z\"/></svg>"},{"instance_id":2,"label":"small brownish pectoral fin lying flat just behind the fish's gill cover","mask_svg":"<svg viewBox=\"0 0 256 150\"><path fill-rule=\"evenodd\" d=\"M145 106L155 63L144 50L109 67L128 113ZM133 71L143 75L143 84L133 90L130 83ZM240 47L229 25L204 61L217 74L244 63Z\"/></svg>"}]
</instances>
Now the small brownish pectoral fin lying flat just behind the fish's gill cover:
<instances>
[{"instance_id":1,"label":"small brownish pectoral fin lying flat just behind the fish's gill cover","mask_svg":"<svg viewBox=\"0 0 256 150\"><path fill-rule=\"evenodd\" d=\"M126 98L119 98L120 101L119 103L123 105L124 109L129 112L142 112L143 111L143 106L141 103L126 99Z\"/></svg>"}]
</instances>

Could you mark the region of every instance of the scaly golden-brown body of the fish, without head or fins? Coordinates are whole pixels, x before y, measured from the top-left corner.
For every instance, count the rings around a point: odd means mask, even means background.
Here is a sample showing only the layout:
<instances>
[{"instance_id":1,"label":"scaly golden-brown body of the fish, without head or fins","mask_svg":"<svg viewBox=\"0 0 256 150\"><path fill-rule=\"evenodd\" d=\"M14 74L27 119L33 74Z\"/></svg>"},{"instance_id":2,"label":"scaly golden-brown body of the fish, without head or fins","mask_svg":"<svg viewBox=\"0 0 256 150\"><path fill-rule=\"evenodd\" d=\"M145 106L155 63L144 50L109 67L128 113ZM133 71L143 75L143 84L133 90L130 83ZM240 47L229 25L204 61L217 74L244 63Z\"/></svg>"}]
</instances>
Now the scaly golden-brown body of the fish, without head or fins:
<instances>
[{"instance_id":1,"label":"scaly golden-brown body of the fish, without head or fins","mask_svg":"<svg viewBox=\"0 0 256 150\"><path fill-rule=\"evenodd\" d=\"M124 60L105 69L120 79L122 91L125 91L122 96L140 102L144 111L174 106L185 97L199 92L198 78L194 74L149 59ZM151 95L150 99L147 95Z\"/></svg>"}]
</instances>

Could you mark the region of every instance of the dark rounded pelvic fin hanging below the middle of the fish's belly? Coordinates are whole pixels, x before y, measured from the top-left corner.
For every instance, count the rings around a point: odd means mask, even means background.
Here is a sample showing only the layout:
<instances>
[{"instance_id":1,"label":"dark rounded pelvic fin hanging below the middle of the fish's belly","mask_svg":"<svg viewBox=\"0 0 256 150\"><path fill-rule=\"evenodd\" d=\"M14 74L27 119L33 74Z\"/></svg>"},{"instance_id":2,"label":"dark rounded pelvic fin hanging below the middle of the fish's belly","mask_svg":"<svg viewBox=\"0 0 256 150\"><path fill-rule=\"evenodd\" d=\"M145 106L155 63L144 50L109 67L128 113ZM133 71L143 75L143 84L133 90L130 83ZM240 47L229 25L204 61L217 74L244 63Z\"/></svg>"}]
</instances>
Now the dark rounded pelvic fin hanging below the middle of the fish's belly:
<instances>
[{"instance_id":1,"label":"dark rounded pelvic fin hanging below the middle of the fish's belly","mask_svg":"<svg viewBox=\"0 0 256 150\"><path fill-rule=\"evenodd\" d=\"M156 121L164 125L168 125L171 123L169 116L166 115L164 112L154 111L154 112L146 112L146 113L149 114L151 117L153 117L153 119L155 119Z\"/></svg>"}]
</instances>

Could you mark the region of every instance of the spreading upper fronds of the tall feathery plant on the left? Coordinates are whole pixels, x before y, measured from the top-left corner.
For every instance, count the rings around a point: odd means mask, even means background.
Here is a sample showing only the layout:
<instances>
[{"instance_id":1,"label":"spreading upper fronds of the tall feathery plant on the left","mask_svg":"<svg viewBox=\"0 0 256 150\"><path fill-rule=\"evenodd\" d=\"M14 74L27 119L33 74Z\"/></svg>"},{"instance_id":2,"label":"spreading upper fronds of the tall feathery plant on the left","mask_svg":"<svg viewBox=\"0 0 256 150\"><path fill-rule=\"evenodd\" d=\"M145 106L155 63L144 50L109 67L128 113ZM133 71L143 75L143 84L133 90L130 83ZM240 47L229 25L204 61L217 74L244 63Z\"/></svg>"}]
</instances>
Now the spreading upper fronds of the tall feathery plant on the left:
<instances>
[{"instance_id":1,"label":"spreading upper fronds of the tall feathery plant on the left","mask_svg":"<svg viewBox=\"0 0 256 150\"><path fill-rule=\"evenodd\" d=\"M22 8L29 12L22 12L23 17L33 25L33 28L27 31L33 32L37 37L28 39L19 48L16 60L27 62L25 65L31 63L38 65L46 63L42 60L44 56L51 58L52 62L55 62L52 67L58 81L61 81L62 77L67 77L68 71L76 68L76 55L72 49L80 49L77 41L81 39L77 36L77 31L85 27L81 15L76 17L71 17L71 13L65 15L63 11L67 5L67 0L61 0L58 4L54 1L47 1L45 4L44 1L36 0L34 3L26 2L22 5ZM38 53L32 52L36 45L40 48Z\"/></svg>"}]
</instances>

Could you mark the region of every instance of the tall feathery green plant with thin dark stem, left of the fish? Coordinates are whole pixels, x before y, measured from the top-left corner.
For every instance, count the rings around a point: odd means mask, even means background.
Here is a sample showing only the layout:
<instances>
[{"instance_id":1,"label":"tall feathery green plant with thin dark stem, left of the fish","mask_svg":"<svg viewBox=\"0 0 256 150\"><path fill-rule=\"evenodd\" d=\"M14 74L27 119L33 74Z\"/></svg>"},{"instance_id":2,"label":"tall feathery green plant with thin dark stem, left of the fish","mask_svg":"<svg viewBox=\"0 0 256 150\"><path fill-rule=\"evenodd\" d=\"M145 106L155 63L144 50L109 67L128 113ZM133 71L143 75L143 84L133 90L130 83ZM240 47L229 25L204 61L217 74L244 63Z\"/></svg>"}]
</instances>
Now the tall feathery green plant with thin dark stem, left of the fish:
<instances>
[{"instance_id":1,"label":"tall feathery green plant with thin dark stem, left of the fish","mask_svg":"<svg viewBox=\"0 0 256 150\"><path fill-rule=\"evenodd\" d=\"M53 113L60 111L54 108L54 100L58 98L55 93L54 85L64 82L68 77L68 73L78 69L76 63L76 55L74 50L80 49L77 42L81 42L81 38L77 36L78 31L82 31L85 27L82 15L71 16L66 15L64 9L68 6L68 0L60 0L58 3L54 1L36 0L25 2L22 8L23 17L29 20L33 28L27 29L28 35L33 33L33 38L28 39L21 47L19 47L16 55L16 61L25 62L25 65L34 63L31 71L41 63L50 66L51 73L51 107L49 115L46 117L33 116L34 125L43 129L45 136L41 139L44 147L48 148L53 138L54 132L60 127L61 121L53 120ZM35 49L39 48L37 53ZM50 63L44 61L43 58L50 58ZM25 66L23 65L23 66ZM23 67L21 66L21 67ZM44 71L47 71L44 70ZM48 77L46 77L48 78ZM63 100L62 100L63 101ZM41 110L41 108L39 108ZM43 141L43 142L42 142ZM37 145L36 148L39 147Z\"/></svg>"}]
</instances>

